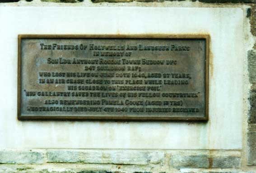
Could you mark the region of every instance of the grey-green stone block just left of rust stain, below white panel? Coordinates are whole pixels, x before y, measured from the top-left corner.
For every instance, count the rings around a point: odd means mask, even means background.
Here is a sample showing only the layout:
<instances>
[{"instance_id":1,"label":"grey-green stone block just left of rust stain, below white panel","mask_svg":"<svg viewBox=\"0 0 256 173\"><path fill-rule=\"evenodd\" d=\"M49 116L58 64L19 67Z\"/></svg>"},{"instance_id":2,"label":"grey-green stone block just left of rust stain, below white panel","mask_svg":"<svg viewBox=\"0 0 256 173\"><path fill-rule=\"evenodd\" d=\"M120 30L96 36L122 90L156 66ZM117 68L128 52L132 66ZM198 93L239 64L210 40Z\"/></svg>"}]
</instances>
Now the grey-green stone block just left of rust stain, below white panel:
<instances>
[{"instance_id":1,"label":"grey-green stone block just left of rust stain, below white panel","mask_svg":"<svg viewBox=\"0 0 256 173\"><path fill-rule=\"evenodd\" d=\"M208 155L174 155L171 157L174 168L209 168Z\"/></svg>"}]
</instances>

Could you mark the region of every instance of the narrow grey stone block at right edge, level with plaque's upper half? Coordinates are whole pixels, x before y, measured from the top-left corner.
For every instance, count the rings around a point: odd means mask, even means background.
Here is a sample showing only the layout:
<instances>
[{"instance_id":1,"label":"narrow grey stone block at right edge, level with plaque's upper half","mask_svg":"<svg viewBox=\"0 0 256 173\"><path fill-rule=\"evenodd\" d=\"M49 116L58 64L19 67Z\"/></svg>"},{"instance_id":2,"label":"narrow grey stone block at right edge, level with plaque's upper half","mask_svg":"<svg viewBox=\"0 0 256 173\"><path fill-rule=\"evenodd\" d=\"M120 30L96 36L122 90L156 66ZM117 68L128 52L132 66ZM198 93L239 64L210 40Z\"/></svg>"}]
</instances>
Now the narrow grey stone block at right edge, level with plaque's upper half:
<instances>
[{"instance_id":1,"label":"narrow grey stone block at right edge, level with plaque's upper half","mask_svg":"<svg viewBox=\"0 0 256 173\"><path fill-rule=\"evenodd\" d=\"M247 53L249 81L256 83L256 50L249 50Z\"/></svg>"}]
</instances>

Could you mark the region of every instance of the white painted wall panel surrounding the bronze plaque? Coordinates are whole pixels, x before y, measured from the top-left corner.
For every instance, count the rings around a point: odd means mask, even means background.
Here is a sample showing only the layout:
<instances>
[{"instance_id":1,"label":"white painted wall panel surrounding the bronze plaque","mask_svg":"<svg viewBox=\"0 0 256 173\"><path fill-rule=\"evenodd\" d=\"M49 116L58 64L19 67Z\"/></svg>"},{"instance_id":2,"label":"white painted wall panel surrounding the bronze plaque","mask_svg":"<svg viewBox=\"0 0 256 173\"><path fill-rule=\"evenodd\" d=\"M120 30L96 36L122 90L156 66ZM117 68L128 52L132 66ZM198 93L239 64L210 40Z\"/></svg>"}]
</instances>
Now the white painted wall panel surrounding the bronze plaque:
<instances>
[{"instance_id":1,"label":"white painted wall panel surrounding the bronze plaque","mask_svg":"<svg viewBox=\"0 0 256 173\"><path fill-rule=\"evenodd\" d=\"M0 7L0 148L241 149L243 12L235 8ZM18 34L209 34L209 121L17 120Z\"/></svg>"}]
</instances>

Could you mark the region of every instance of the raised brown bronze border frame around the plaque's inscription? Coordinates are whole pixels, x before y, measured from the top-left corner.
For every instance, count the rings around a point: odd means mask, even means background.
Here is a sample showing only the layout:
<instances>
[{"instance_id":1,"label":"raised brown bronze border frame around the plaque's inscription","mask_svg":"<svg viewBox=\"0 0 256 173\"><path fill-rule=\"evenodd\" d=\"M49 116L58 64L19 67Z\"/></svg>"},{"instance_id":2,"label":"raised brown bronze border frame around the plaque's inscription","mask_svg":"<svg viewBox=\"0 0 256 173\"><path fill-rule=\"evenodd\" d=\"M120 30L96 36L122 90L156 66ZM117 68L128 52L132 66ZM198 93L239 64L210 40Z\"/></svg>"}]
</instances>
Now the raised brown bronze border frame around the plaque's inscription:
<instances>
[{"instance_id":1,"label":"raised brown bronze border frame around the plaque's inscription","mask_svg":"<svg viewBox=\"0 0 256 173\"><path fill-rule=\"evenodd\" d=\"M131 117L131 116L22 116L21 115L21 40L26 38L131 38L131 39L205 39L205 116L204 117ZM77 34L19 34L18 35L18 120L104 120L104 121L208 121L209 120L209 49L210 35L208 34L107 34L107 35L77 35Z\"/></svg>"}]
</instances>

